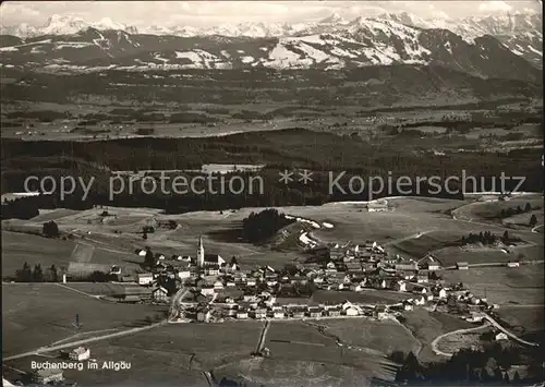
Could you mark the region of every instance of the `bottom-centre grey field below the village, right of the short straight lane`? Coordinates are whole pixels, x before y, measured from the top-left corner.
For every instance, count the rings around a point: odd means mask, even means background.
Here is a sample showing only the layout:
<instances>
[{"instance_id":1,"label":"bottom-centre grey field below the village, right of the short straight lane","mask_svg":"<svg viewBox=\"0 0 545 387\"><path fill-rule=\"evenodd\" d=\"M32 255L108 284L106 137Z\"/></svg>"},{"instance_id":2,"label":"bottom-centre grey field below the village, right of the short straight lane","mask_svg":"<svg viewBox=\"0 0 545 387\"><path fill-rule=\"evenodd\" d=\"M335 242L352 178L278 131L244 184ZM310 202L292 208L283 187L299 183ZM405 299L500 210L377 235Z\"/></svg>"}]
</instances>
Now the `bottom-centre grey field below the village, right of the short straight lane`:
<instances>
[{"instance_id":1,"label":"bottom-centre grey field below the village, right of the short straight lane","mask_svg":"<svg viewBox=\"0 0 545 387\"><path fill-rule=\"evenodd\" d=\"M391 378L391 365L380 354L337 343L313 323L272 322L265 347L270 356L241 360L214 371L216 379L228 377L262 385L344 386L368 385L372 376Z\"/></svg>"}]
</instances>

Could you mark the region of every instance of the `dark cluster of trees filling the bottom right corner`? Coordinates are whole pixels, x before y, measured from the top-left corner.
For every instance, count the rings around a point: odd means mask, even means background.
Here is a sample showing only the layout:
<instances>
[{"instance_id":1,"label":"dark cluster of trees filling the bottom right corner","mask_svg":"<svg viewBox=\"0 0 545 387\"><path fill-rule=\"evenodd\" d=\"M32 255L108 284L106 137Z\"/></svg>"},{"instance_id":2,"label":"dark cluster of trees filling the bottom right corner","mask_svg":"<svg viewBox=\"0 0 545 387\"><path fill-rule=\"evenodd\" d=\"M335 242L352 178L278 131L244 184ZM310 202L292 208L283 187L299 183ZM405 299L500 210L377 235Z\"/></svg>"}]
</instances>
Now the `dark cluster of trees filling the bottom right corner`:
<instances>
[{"instance_id":1,"label":"dark cluster of trees filling the bottom right corner","mask_svg":"<svg viewBox=\"0 0 545 387\"><path fill-rule=\"evenodd\" d=\"M400 364L396 374L396 380L408 384L481 384L494 385L535 383L543 378L543 355L533 350L532 353L523 353L518 347L501 347L494 342L487 344L484 350L462 349L455 353L448 361L441 363L421 364L414 353L408 354L396 351L390 354L390 360ZM528 376L524 380L518 372L512 379L501 370L511 365L529 363Z\"/></svg>"}]
</instances>

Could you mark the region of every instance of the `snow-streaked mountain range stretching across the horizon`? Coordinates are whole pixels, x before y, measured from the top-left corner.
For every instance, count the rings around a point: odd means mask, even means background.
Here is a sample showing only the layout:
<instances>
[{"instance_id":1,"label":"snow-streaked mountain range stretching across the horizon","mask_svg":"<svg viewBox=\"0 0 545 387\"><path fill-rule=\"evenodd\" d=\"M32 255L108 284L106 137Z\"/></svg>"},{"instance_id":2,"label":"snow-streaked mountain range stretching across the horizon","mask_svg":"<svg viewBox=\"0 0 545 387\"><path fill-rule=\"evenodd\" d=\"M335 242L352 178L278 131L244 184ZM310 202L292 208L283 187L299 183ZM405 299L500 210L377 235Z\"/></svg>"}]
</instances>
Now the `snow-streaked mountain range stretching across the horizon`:
<instances>
[{"instance_id":1,"label":"snow-streaked mountain range stretching across the horizon","mask_svg":"<svg viewBox=\"0 0 545 387\"><path fill-rule=\"evenodd\" d=\"M149 27L105 19L50 17L43 27L2 27L2 65L88 72L178 69L320 69L443 65L481 77L541 80L542 16L461 21L408 13L313 23Z\"/></svg>"}]
</instances>

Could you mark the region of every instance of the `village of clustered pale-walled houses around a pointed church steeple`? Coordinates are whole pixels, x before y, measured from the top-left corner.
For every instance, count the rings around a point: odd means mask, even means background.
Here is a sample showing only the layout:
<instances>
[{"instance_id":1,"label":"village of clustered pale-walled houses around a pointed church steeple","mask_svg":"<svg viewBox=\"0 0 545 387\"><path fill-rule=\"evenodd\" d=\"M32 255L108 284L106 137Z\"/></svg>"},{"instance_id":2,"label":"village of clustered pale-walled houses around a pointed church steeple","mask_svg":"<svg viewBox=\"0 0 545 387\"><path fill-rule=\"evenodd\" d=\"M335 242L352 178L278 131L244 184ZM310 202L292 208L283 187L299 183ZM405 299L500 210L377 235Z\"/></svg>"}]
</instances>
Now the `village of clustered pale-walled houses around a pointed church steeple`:
<instances>
[{"instance_id":1,"label":"village of clustered pale-walled houses around a pointed church steeple","mask_svg":"<svg viewBox=\"0 0 545 387\"><path fill-rule=\"evenodd\" d=\"M313 262L286 265L281 269L264 266L241 270L237 257L205 254L199 239L195 257L153 253L149 247L136 253L149 263L149 270L135 277L111 274L140 287L125 288L117 302L170 304L170 323L220 323L231 319L319 319L396 318L402 311L426 307L479 323L484 311L496 305L477 298L463 283L445 283L445 269L428 254L420 261L388 254L376 242L328 244L314 249ZM229 262L228 262L229 261ZM509 267L519 263L510 262ZM456 265L469 269L468 263ZM311 295L316 291L334 294L324 302ZM388 301L370 300L365 294L387 294ZM349 297L350 295L350 297ZM353 295L362 295L355 298Z\"/></svg>"}]
</instances>

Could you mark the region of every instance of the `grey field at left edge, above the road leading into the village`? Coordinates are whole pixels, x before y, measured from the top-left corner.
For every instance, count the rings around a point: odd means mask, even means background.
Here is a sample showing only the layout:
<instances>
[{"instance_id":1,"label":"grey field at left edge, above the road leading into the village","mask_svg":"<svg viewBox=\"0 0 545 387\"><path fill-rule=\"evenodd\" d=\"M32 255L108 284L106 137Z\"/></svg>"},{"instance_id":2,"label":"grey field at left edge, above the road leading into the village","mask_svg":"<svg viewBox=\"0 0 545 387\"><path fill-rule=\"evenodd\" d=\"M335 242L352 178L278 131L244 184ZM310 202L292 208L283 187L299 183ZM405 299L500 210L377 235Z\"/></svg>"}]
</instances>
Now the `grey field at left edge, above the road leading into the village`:
<instances>
[{"instance_id":1,"label":"grey field at left edge, above the road leading into the village","mask_svg":"<svg viewBox=\"0 0 545 387\"><path fill-rule=\"evenodd\" d=\"M2 354L31 351L75 334L133 327L147 316L162 316L164 311L153 305L109 303L53 283L4 283ZM73 326L76 314L80 330Z\"/></svg>"}]
</instances>

